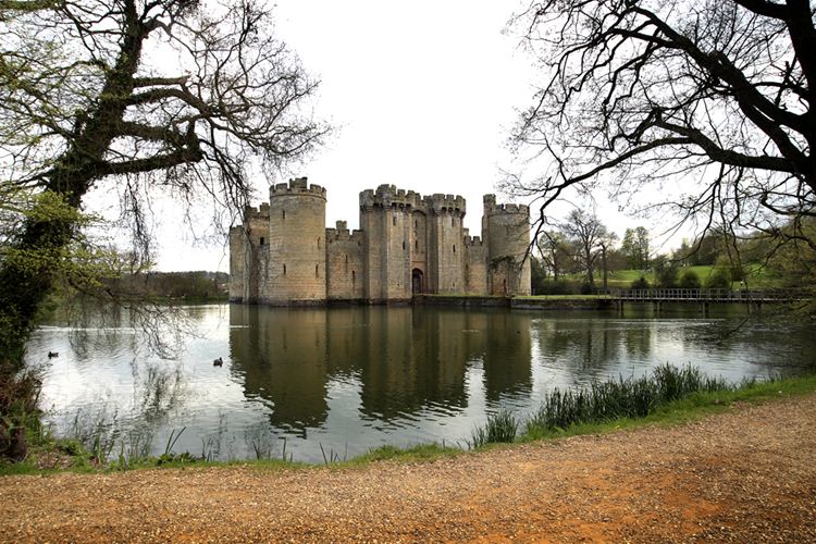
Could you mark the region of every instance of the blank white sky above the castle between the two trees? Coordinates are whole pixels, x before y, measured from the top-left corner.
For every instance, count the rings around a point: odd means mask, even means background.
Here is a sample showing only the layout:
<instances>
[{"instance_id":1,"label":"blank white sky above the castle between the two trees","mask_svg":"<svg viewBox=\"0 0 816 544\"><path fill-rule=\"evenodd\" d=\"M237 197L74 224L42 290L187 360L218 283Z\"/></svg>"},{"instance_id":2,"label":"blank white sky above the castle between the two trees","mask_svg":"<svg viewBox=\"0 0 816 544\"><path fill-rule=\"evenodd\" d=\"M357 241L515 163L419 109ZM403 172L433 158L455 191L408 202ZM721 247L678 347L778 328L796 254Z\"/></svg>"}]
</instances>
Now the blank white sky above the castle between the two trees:
<instances>
[{"instance_id":1,"label":"blank white sky above the castle between the two trees","mask_svg":"<svg viewBox=\"0 0 816 544\"><path fill-rule=\"evenodd\" d=\"M358 194L387 183L463 196L465 225L480 234L482 195L495 193L499 169L510 166L508 131L533 94L532 59L503 34L516 5L277 1L279 35L321 79L317 114L336 127L313 160L289 173L326 188L327 226L357 227ZM256 185L265 200L268 181ZM174 213L159 214L158 269L228 271L223 243L193 245ZM620 236L645 224L604 202L597 213Z\"/></svg>"}]
</instances>

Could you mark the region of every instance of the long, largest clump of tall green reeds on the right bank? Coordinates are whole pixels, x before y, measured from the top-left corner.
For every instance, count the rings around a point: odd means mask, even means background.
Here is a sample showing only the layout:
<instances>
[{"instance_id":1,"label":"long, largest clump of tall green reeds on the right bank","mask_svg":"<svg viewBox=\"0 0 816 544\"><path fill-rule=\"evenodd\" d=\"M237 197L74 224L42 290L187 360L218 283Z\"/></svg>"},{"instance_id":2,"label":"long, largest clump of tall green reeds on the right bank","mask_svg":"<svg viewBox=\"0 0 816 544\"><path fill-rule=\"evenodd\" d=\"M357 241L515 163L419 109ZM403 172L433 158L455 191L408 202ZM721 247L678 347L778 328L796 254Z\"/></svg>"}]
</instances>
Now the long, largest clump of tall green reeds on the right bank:
<instances>
[{"instance_id":1,"label":"long, largest clump of tall green reeds on the right bank","mask_svg":"<svg viewBox=\"0 0 816 544\"><path fill-rule=\"evenodd\" d=\"M693 393L731 391L735 386L721 378L707 376L696 367L662 364L651 375L641 378L621 376L577 390L556 387L527 421L527 433L618 418L643 418L658 407Z\"/></svg>"}]
</instances>

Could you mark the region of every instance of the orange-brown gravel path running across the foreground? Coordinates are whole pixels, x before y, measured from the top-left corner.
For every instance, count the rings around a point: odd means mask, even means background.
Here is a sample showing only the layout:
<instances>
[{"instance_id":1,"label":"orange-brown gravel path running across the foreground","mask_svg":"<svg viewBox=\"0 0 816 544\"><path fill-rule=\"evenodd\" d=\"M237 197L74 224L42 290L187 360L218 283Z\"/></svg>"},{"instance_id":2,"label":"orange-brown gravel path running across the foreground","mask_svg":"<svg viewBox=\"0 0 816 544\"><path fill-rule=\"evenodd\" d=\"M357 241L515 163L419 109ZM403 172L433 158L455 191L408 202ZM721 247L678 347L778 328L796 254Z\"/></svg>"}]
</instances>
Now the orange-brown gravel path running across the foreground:
<instances>
[{"instance_id":1,"label":"orange-brown gravel path running across the foreground","mask_svg":"<svg viewBox=\"0 0 816 544\"><path fill-rule=\"evenodd\" d=\"M816 395L430 463L0 478L2 541L816 542Z\"/></svg>"}]
</instances>

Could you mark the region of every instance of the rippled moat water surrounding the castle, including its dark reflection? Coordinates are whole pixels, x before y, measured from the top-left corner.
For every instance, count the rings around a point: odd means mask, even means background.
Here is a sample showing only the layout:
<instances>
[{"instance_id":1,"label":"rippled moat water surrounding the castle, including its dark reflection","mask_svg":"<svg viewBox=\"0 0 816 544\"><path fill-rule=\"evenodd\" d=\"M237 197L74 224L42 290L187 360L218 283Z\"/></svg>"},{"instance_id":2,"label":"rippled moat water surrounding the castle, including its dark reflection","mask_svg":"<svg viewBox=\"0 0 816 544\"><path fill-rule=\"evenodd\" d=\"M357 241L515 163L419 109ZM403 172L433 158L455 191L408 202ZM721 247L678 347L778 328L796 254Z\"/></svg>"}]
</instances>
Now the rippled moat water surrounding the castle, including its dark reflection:
<instances>
[{"instance_id":1,"label":"rippled moat water surrounding the castle, including its dark reflection","mask_svg":"<svg viewBox=\"0 0 816 544\"><path fill-rule=\"evenodd\" d=\"M383 444L466 446L499 407L534 411L553 387L692 363L732 381L816 367L813 324L655 314L356 307L191 306L195 332L161 359L126 317L115 325L39 329L28 359L44 367L42 406L57 435L148 437L153 454L322 462ZM48 351L59 351L48 360ZM223 367L213 359L223 358ZM322 449L321 449L322 448Z\"/></svg>"}]
</instances>

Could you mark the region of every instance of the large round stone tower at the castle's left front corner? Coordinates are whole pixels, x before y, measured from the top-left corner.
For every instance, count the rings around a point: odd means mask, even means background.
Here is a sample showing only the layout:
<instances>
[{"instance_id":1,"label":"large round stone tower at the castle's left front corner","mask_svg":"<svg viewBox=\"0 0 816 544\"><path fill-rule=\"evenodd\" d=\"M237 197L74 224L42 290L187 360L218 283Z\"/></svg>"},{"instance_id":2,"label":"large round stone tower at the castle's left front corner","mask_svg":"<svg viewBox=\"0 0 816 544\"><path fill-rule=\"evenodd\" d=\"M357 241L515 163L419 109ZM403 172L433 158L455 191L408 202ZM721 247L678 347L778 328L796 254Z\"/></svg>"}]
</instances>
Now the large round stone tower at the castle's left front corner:
<instances>
[{"instance_id":1,"label":"large round stone tower at the castle's left front corner","mask_svg":"<svg viewBox=\"0 0 816 544\"><path fill-rule=\"evenodd\" d=\"M326 299L325 189L306 177L269 188L270 304L319 304Z\"/></svg>"}]
</instances>

